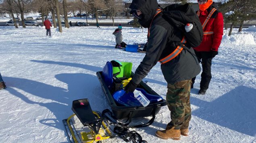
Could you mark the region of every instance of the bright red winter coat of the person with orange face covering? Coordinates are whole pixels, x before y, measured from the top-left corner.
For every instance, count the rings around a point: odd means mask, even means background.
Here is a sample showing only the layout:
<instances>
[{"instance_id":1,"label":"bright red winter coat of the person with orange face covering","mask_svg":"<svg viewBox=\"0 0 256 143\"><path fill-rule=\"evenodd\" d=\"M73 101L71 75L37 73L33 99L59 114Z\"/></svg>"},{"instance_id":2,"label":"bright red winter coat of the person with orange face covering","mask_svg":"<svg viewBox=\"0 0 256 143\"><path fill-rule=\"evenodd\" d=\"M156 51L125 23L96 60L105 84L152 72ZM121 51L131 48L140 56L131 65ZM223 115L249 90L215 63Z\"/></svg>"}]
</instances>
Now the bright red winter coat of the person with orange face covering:
<instances>
[{"instance_id":1,"label":"bright red winter coat of the person with orange face covering","mask_svg":"<svg viewBox=\"0 0 256 143\"><path fill-rule=\"evenodd\" d=\"M204 20L206 19L212 8L213 6L210 6L207 10L200 10L199 19L201 24L204 23ZM221 12L216 10L212 14L211 18L209 19L208 23L206 24L203 30L204 32L213 31L213 34L204 35L201 44L195 47L194 50L198 52L209 52L211 50L218 51L223 35L223 15L221 14Z\"/></svg>"}]
</instances>

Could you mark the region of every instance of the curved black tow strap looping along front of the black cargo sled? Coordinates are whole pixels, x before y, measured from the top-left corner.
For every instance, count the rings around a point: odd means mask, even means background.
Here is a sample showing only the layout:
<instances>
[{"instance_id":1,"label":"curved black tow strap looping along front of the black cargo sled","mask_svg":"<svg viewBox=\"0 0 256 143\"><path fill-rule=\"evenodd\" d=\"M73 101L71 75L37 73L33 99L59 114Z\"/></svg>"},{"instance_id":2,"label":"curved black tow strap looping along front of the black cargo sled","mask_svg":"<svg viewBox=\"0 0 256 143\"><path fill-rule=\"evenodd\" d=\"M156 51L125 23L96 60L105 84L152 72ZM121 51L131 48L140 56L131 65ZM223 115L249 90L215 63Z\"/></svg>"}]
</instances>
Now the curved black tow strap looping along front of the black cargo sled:
<instances>
[{"instance_id":1,"label":"curved black tow strap looping along front of the black cargo sled","mask_svg":"<svg viewBox=\"0 0 256 143\"><path fill-rule=\"evenodd\" d=\"M153 109L153 111L152 111L152 118L150 119L150 121L148 121L148 123L140 124L140 125L135 125L135 126L129 126L129 124L131 123L131 119L132 119L131 115L133 114L133 111L130 111L128 119L125 122L123 122L123 123L117 122L117 119L115 119L115 117L113 116L112 112L109 109L105 109L105 110L102 111L102 117L106 118L108 121L110 121L110 123L113 123L113 124L115 124L116 126L119 126L119 127L141 128L141 127L147 127L147 126L151 125L154 122L154 120L156 118L155 109L156 108Z\"/></svg>"}]
</instances>

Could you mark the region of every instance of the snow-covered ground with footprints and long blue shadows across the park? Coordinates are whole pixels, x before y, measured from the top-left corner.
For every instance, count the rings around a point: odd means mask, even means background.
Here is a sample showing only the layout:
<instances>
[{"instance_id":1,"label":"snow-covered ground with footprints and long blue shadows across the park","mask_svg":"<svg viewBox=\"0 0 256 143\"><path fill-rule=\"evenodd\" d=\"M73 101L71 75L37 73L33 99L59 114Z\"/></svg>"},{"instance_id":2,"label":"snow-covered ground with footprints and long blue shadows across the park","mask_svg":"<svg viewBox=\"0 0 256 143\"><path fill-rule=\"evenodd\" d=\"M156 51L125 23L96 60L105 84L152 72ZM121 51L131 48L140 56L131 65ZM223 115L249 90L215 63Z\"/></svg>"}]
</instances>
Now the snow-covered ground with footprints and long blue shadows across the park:
<instances>
[{"instance_id":1,"label":"snow-covered ground with footprints and long blue shadows across the park","mask_svg":"<svg viewBox=\"0 0 256 143\"><path fill-rule=\"evenodd\" d=\"M117 27L52 28L0 26L0 72L7 88L0 90L1 143L67 143L62 119L73 112L72 101L88 98L93 110L109 108L96 72L110 60L133 63L144 53L114 49ZM191 89L189 136L179 141L155 137L170 121L162 107L154 123L135 129L148 143L256 143L256 32L251 27L223 36L212 61L212 81L206 95L198 95L200 75ZM227 34L228 31L225 31ZM123 41L144 43L147 30L123 27ZM167 83L160 64L144 79L165 99ZM120 138L102 143L124 143Z\"/></svg>"}]
</instances>

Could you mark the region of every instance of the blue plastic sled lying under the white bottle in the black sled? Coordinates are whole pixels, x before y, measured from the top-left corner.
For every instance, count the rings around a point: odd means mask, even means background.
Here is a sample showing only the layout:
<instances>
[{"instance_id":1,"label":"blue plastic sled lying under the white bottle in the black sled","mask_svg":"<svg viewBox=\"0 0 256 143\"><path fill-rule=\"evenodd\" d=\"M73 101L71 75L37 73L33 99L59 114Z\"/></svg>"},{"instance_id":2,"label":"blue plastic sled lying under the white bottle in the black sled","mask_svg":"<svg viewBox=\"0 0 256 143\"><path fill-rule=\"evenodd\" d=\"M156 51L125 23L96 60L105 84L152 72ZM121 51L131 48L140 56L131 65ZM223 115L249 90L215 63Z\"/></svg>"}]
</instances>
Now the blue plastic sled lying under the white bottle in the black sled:
<instances>
[{"instance_id":1,"label":"blue plastic sled lying under the white bottle in the black sled","mask_svg":"<svg viewBox=\"0 0 256 143\"><path fill-rule=\"evenodd\" d=\"M160 96L148 94L144 89L136 89L141 91L147 97L147 99L150 101L150 104L162 101L162 97ZM114 101L119 106L142 106L142 104L139 103L139 101L134 97L133 93L126 93L123 89L116 91L113 94L113 97Z\"/></svg>"}]
</instances>

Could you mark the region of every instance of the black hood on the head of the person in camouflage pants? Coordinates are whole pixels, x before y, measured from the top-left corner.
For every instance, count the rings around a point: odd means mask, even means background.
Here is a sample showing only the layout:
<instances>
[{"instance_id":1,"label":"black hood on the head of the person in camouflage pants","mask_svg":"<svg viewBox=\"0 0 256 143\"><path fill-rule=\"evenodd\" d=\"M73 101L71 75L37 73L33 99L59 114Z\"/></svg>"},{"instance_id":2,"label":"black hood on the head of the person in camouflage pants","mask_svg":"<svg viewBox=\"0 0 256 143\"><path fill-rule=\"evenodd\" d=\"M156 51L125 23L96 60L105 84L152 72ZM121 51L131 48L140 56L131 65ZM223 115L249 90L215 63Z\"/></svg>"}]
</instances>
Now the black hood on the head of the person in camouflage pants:
<instances>
[{"instance_id":1,"label":"black hood on the head of the person in camouflage pants","mask_svg":"<svg viewBox=\"0 0 256 143\"><path fill-rule=\"evenodd\" d=\"M158 9L158 3L156 0L133 0L129 8L131 9L130 13L134 13L139 18L139 24L144 28L149 28L156 9ZM136 10L140 10L142 14L137 16Z\"/></svg>"}]
</instances>

